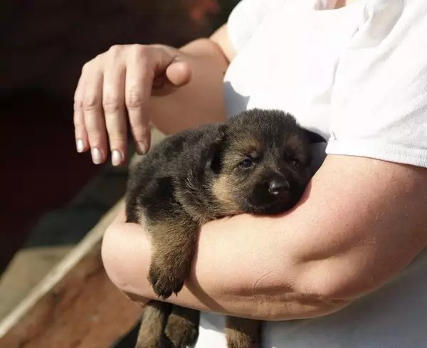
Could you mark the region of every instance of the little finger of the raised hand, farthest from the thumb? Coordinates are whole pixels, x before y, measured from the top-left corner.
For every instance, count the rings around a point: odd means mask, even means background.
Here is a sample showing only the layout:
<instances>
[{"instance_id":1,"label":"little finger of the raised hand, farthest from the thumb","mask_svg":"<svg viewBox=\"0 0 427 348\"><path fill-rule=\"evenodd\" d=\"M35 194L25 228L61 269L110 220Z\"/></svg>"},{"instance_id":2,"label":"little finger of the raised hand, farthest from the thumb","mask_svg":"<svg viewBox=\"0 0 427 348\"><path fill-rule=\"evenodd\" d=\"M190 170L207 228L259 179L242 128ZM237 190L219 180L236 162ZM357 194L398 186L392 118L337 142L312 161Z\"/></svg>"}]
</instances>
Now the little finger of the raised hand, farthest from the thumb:
<instances>
[{"instance_id":1,"label":"little finger of the raised hand, farthest from the thumb","mask_svg":"<svg viewBox=\"0 0 427 348\"><path fill-rule=\"evenodd\" d=\"M75 147L77 152L85 152L88 150L88 132L86 132L85 117L83 114L83 92L85 90L85 75L82 70L82 75L78 80L77 88L74 93L74 135Z\"/></svg>"}]
</instances>

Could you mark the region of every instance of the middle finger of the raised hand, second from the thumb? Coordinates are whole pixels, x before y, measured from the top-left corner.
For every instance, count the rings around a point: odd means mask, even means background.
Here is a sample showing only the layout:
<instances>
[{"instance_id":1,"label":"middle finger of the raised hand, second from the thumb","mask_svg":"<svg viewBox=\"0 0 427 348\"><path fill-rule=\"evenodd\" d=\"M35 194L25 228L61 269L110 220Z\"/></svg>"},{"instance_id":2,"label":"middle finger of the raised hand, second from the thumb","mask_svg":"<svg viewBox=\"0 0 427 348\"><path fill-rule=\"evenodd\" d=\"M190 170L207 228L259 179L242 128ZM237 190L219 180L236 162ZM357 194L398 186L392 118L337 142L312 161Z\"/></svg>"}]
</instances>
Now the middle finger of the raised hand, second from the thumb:
<instances>
[{"instance_id":1,"label":"middle finger of the raised hand, second from the thumb","mask_svg":"<svg viewBox=\"0 0 427 348\"><path fill-rule=\"evenodd\" d=\"M127 122L125 112L125 66L112 57L105 67L102 105L105 113L111 162L113 166L122 164L127 149Z\"/></svg>"}]
</instances>

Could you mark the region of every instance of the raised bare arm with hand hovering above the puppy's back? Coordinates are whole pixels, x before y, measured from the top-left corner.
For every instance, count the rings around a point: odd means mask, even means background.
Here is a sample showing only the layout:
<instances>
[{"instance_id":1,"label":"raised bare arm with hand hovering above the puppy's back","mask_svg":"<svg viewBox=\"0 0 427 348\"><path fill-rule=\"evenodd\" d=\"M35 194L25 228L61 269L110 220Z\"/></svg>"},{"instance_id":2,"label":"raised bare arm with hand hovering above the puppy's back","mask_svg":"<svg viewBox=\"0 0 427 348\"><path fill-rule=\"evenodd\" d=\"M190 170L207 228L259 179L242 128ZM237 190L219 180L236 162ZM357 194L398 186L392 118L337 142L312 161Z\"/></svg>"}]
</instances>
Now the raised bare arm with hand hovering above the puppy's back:
<instances>
[{"instance_id":1,"label":"raised bare arm with hand hovering above the puppy's back","mask_svg":"<svg viewBox=\"0 0 427 348\"><path fill-rule=\"evenodd\" d=\"M211 38L181 49L164 45L112 46L83 66L75 90L78 152L93 162L121 164L127 152L127 118L139 152L150 143L150 121L165 133L224 120L223 73L236 52L227 25Z\"/></svg>"}]
</instances>

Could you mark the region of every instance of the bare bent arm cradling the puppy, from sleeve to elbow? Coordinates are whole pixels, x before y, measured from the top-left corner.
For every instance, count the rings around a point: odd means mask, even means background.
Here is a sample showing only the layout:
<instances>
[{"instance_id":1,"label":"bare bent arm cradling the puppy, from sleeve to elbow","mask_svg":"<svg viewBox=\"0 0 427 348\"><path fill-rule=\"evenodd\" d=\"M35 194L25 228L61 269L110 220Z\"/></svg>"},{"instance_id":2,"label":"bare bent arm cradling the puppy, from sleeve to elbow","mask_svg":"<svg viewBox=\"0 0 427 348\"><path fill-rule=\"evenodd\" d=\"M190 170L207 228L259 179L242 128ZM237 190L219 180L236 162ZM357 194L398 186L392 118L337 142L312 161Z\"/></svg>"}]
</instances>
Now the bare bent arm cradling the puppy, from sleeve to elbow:
<instances>
[{"instance_id":1,"label":"bare bent arm cradling the puppy, from sleeve to elbow","mask_svg":"<svg viewBox=\"0 0 427 348\"><path fill-rule=\"evenodd\" d=\"M391 280L427 245L427 169L331 155L292 212L225 218L201 228L185 307L260 320L316 317ZM102 258L130 297L156 299L151 246L119 216Z\"/></svg>"}]
</instances>

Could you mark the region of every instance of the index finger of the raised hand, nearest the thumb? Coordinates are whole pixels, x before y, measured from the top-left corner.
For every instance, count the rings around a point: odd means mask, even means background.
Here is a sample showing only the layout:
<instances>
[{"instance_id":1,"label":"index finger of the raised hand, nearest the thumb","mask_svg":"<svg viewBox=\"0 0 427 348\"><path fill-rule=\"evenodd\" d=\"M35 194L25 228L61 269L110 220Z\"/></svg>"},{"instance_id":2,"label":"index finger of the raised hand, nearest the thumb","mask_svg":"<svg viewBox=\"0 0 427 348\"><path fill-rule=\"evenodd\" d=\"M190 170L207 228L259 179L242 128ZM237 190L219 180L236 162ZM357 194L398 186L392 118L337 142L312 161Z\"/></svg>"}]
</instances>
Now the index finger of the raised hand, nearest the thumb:
<instances>
[{"instance_id":1,"label":"index finger of the raised hand, nearest the thumb","mask_svg":"<svg viewBox=\"0 0 427 348\"><path fill-rule=\"evenodd\" d=\"M137 152L141 154L148 151L151 142L147 102L151 95L154 73L149 48L137 46L127 61L125 102L132 136L135 139Z\"/></svg>"}]
</instances>

